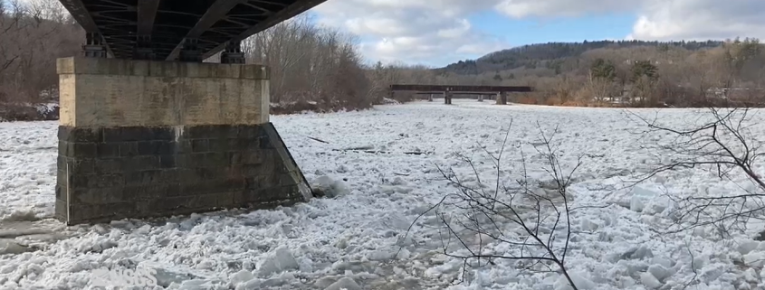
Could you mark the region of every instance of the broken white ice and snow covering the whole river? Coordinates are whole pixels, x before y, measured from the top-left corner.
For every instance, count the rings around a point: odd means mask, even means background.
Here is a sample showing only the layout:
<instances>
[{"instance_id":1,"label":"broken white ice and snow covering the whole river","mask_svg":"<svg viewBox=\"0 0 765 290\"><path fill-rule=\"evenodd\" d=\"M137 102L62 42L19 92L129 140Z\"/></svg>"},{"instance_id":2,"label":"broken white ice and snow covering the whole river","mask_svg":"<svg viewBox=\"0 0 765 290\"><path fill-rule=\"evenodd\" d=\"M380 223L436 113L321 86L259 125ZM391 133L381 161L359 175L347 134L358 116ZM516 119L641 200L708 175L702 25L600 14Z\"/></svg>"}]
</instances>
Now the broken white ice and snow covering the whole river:
<instances>
[{"instance_id":1,"label":"broken white ice and snow covering the whole river","mask_svg":"<svg viewBox=\"0 0 765 290\"><path fill-rule=\"evenodd\" d=\"M532 190L559 201L544 171L545 156L530 145L538 142L538 126L545 132L559 127L556 156L564 171L580 155L586 156L569 188L576 197L569 200L570 206L576 210L570 223L559 228L570 225L573 236L566 260L579 288L645 290L656 281L659 289L682 288L694 276L698 284L689 289L758 287L759 281L751 281L765 276L761 268L765 265L759 262L765 243L753 242L752 233L720 239L719 231L709 226L655 234L677 221L667 214L677 205L662 200L665 194L741 192L735 184L746 184L742 176L720 182L713 173L682 169L633 188L632 175L653 166L645 143L667 136L633 134L641 127L627 121L621 109L489 103L455 99L455 106L414 102L359 112L273 116L306 178L330 192L331 199L275 210L227 210L160 222L122 220L40 233L62 237L55 239L33 237L36 234L19 237L20 231L14 231L14 237L7 238L11 246L3 246L14 254L0 255L0 288L88 288L86 275L93 268L145 263L157 268L160 286L168 289L326 289L344 278L337 287L566 288L559 274L521 271L516 263L504 260L470 268L473 285L451 285L461 278L464 264L442 254L444 230L439 227L440 214L452 212L426 212L456 190L443 180L436 164L466 176L477 173L484 184L499 178L502 185L513 186L523 179L516 165L525 161ZM684 126L688 117L698 116L684 109L632 111L658 114L668 126ZM765 134L763 115L752 115L759 119L751 130L760 136ZM485 153L499 152L509 117L514 120L513 147L504 151L506 164L497 176ZM53 217L57 126L57 122L0 124L4 177L0 219ZM177 134L181 131L178 128ZM305 136L330 144L306 142ZM523 156L518 154L521 149ZM403 154L415 152L428 154ZM461 156L472 158L474 167ZM479 183L477 178L464 182ZM479 188L490 192L493 187ZM8 222L0 221L0 228ZM500 226L506 232L516 230ZM548 235L550 229L540 232ZM474 233L465 237L467 242L480 242L486 251L507 253L501 240ZM22 252L16 246L34 251ZM394 250L400 247L404 248Z\"/></svg>"}]
</instances>

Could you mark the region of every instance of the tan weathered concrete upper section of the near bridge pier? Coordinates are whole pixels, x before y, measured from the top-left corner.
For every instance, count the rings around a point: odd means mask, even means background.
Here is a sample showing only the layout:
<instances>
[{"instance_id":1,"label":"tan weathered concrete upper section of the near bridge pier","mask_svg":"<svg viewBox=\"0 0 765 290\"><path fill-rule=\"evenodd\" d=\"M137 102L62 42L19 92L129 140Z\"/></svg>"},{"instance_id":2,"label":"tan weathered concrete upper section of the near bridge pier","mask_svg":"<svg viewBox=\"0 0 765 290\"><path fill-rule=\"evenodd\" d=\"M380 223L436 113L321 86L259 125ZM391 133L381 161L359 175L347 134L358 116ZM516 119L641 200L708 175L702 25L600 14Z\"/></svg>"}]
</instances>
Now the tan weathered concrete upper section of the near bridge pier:
<instances>
[{"instance_id":1,"label":"tan weathered concrete upper section of the near bridge pier","mask_svg":"<svg viewBox=\"0 0 765 290\"><path fill-rule=\"evenodd\" d=\"M92 58L60 59L57 65L63 126L268 122L268 70L263 66ZM147 139L141 137L145 131L135 130L114 130L110 136Z\"/></svg>"}]
</instances>

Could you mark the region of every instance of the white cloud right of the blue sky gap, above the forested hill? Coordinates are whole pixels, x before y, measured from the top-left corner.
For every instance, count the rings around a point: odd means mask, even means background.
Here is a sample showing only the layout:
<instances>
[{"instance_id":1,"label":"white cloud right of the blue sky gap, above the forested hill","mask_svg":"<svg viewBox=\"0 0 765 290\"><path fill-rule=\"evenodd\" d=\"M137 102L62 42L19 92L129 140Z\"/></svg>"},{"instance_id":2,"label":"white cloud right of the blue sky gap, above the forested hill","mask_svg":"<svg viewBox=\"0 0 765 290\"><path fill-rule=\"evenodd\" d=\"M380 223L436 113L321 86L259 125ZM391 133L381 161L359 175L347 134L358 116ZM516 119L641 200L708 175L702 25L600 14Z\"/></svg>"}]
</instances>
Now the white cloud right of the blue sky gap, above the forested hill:
<instances>
[{"instance_id":1,"label":"white cloud right of the blue sky gap, above the forested hill","mask_svg":"<svg viewBox=\"0 0 765 290\"><path fill-rule=\"evenodd\" d=\"M495 8L512 18L634 12L627 39L765 38L762 0L503 0Z\"/></svg>"}]
</instances>

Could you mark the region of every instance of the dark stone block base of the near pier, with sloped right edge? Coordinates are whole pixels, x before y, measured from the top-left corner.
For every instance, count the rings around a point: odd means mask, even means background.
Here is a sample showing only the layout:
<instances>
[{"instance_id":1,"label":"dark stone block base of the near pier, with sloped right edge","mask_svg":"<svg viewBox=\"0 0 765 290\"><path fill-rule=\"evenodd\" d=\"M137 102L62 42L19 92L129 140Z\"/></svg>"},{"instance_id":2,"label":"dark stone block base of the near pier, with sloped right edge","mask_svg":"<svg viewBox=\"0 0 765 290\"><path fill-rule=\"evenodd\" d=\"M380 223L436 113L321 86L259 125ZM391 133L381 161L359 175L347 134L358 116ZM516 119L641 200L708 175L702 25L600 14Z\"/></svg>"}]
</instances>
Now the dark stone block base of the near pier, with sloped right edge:
<instances>
[{"instance_id":1,"label":"dark stone block base of the near pier, with sloped right edge","mask_svg":"<svg viewBox=\"0 0 765 290\"><path fill-rule=\"evenodd\" d=\"M172 141L161 133L168 130L123 127L98 133L62 126L59 136L70 139L60 140L56 217L74 224L269 208L311 198L271 123L187 126ZM91 143L95 136L101 141ZM185 145L191 150L178 150Z\"/></svg>"}]
</instances>

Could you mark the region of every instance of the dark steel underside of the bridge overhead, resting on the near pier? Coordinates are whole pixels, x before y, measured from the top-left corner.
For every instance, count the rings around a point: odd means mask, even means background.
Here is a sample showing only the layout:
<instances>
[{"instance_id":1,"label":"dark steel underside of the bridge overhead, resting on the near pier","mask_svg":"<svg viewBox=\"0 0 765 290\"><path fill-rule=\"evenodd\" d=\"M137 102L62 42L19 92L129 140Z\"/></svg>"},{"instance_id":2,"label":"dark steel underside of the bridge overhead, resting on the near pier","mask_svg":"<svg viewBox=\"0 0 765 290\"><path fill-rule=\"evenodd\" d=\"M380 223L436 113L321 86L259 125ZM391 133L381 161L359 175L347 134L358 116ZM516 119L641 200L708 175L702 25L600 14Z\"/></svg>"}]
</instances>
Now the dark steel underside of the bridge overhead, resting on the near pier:
<instances>
[{"instance_id":1,"label":"dark steel underside of the bridge overhead, resting on the near pier","mask_svg":"<svg viewBox=\"0 0 765 290\"><path fill-rule=\"evenodd\" d=\"M88 33L86 56L242 62L239 42L326 0L61 0Z\"/></svg>"}]
</instances>

